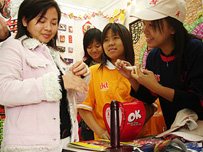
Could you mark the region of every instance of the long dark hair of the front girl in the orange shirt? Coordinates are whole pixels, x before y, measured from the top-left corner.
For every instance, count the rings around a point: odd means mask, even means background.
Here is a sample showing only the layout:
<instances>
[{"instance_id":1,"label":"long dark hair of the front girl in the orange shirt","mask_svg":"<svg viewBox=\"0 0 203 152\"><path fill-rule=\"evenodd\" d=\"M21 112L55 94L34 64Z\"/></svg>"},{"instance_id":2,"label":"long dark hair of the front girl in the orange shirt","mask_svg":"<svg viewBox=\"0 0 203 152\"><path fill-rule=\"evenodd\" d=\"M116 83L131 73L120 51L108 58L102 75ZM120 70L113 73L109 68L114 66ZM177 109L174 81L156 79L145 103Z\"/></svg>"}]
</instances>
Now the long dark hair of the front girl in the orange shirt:
<instances>
[{"instance_id":1,"label":"long dark hair of the front girl in the orange shirt","mask_svg":"<svg viewBox=\"0 0 203 152\"><path fill-rule=\"evenodd\" d=\"M124 46L124 51L125 51L125 60L128 61L131 65L135 64L135 55L134 55L134 50L133 50L133 42L132 42L132 37L130 34L130 31L122 24L119 23L108 23L102 32L102 48L103 48L103 43L104 39L106 37L106 34L109 29L112 29L114 34L118 34L123 42ZM103 48L104 50L104 48ZM106 65L107 60L111 59L106 55L106 53L103 51L103 57L102 57L102 63L100 68L102 69L104 65Z\"/></svg>"}]
</instances>

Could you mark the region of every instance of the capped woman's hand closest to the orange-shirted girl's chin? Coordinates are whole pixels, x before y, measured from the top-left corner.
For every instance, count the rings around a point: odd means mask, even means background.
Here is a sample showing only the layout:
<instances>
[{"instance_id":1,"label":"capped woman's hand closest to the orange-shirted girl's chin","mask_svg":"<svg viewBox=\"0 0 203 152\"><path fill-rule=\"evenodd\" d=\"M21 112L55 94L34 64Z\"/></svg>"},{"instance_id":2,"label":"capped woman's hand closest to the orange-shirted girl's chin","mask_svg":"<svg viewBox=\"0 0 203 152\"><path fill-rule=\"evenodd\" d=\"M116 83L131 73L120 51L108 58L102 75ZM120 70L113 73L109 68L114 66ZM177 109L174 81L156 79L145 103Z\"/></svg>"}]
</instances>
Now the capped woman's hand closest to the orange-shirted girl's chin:
<instances>
[{"instance_id":1,"label":"capped woman's hand closest to the orange-shirted girl's chin","mask_svg":"<svg viewBox=\"0 0 203 152\"><path fill-rule=\"evenodd\" d=\"M131 66L131 64L127 61L117 59L115 62L116 69L120 72L121 75L126 77L127 79L131 79L131 71L127 70L125 67Z\"/></svg>"}]
</instances>

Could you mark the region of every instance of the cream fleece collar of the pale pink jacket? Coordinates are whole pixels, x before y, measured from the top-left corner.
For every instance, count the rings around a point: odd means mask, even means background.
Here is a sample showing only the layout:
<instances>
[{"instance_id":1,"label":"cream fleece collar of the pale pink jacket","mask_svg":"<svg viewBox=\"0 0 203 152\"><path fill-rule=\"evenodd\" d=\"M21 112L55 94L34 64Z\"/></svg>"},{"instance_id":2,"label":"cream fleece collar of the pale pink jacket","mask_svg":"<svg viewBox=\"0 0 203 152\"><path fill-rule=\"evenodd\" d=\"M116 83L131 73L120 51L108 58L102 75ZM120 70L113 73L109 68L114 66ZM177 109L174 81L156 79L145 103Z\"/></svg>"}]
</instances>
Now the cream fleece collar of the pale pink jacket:
<instances>
[{"instance_id":1,"label":"cream fleece collar of the pale pink jacket","mask_svg":"<svg viewBox=\"0 0 203 152\"><path fill-rule=\"evenodd\" d=\"M44 45L44 43L41 43L39 40L37 40L35 38L30 38L30 37L28 37L26 35L20 37L19 40L29 50L35 50L38 46Z\"/></svg>"}]
</instances>

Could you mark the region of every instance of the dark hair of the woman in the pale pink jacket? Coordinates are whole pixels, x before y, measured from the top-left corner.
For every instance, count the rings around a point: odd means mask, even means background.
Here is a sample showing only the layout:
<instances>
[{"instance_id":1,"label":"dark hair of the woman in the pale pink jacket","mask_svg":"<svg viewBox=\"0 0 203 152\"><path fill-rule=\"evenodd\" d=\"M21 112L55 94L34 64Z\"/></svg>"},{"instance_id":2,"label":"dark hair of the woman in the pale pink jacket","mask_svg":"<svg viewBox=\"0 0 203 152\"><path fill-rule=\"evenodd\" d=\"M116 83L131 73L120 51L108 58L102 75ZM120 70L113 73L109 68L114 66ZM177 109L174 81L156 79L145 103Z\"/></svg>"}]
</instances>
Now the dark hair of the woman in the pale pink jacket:
<instances>
[{"instance_id":1,"label":"dark hair of the woman in the pale pink jacket","mask_svg":"<svg viewBox=\"0 0 203 152\"><path fill-rule=\"evenodd\" d=\"M40 20L44 16L44 14L46 14L47 10L50 7L56 8L56 11L58 14L58 24L59 24L61 19L61 11L55 0L24 0L20 5L19 11L18 11L18 23L17 23L18 28L17 28L17 34L15 38L18 39L23 35L27 35L28 37L31 37L29 32L27 31L27 28L23 26L23 23L22 23L23 18L26 19L27 23L29 23L32 19L34 19L36 16L40 14L40 18L39 18ZM56 49L56 39L57 39L57 34L54 36L52 40L50 40L47 43L47 45Z\"/></svg>"}]
</instances>

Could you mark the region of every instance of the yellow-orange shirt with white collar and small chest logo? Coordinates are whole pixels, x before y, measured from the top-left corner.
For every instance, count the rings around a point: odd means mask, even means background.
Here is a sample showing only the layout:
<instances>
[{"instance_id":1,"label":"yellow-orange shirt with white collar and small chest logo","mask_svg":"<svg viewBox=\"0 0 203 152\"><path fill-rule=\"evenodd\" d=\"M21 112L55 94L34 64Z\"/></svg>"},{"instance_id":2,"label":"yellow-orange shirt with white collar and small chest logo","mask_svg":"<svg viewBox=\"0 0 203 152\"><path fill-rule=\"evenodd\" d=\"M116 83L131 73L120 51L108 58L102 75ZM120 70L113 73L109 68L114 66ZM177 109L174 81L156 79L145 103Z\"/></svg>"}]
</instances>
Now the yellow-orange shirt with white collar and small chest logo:
<instances>
[{"instance_id":1,"label":"yellow-orange shirt with white collar and small chest logo","mask_svg":"<svg viewBox=\"0 0 203 152\"><path fill-rule=\"evenodd\" d=\"M103 119L103 107L112 100L120 102L131 102L136 99L130 96L131 84L108 62L103 70L98 69L99 65L90 67L91 80L89 83L89 92L86 100L78 105L80 109L92 111L98 124L106 129ZM95 139L99 137L94 134Z\"/></svg>"}]
</instances>

